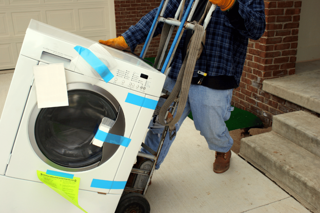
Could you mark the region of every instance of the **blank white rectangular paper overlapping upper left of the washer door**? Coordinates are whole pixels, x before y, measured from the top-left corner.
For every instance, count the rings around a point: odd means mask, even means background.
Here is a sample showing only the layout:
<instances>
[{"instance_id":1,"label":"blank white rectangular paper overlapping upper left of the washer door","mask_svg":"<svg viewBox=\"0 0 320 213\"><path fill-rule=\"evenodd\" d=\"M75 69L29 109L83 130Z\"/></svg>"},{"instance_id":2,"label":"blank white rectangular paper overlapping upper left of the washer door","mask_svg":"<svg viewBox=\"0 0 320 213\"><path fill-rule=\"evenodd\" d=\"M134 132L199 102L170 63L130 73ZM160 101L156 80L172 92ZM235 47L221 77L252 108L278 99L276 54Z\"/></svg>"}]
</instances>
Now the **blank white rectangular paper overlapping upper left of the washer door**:
<instances>
[{"instance_id":1,"label":"blank white rectangular paper overlapping upper left of the washer door","mask_svg":"<svg viewBox=\"0 0 320 213\"><path fill-rule=\"evenodd\" d=\"M33 66L38 108L68 106L63 63Z\"/></svg>"}]
</instances>

